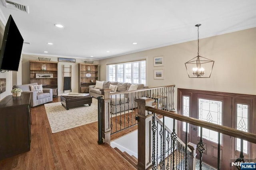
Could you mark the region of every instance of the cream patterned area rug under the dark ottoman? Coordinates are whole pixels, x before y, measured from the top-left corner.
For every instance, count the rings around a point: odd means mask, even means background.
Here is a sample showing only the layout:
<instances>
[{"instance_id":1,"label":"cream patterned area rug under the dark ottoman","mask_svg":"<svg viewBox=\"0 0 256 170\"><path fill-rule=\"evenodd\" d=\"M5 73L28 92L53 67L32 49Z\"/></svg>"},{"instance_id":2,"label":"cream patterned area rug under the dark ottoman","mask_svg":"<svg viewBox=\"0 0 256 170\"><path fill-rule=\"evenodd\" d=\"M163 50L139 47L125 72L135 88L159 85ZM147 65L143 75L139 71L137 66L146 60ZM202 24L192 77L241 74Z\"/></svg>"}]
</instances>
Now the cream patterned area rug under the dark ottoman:
<instances>
[{"instance_id":1,"label":"cream patterned area rug under the dark ottoman","mask_svg":"<svg viewBox=\"0 0 256 170\"><path fill-rule=\"evenodd\" d=\"M70 107L66 110L60 102L44 104L52 133L79 127L98 121L98 101L92 98L92 104Z\"/></svg>"}]
</instances>

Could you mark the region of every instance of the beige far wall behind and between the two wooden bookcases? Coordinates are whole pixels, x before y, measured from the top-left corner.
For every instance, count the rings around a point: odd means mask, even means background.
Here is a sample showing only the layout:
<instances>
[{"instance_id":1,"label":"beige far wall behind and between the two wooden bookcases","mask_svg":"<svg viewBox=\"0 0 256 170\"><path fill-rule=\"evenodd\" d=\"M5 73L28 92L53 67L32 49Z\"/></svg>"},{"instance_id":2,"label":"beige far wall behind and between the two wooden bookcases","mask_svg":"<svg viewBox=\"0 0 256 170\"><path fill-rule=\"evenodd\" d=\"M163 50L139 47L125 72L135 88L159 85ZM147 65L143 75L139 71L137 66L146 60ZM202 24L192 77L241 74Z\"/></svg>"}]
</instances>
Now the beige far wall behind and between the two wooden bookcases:
<instances>
[{"instance_id":1,"label":"beige far wall behind and between the two wooden bookcases","mask_svg":"<svg viewBox=\"0 0 256 170\"><path fill-rule=\"evenodd\" d=\"M29 60L38 61L38 57L46 57L51 58L50 61L58 61L58 57L54 56L43 56L43 55L22 55L22 84L28 84L30 83L30 75L29 75ZM71 57L70 57L71 58ZM58 63L58 95L61 95L63 93L63 65L65 67L70 67L72 65L72 73L71 73L71 89L72 92L78 93L78 63L84 63L85 60L88 59L76 59L76 63L70 63L70 62L59 62ZM94 61L95 64L98 64L98 60L91 60ZM69 76L65 73L65 76ZM65 93L70 92L69 90L66 90Z\"/></svg>"}]
</instances>

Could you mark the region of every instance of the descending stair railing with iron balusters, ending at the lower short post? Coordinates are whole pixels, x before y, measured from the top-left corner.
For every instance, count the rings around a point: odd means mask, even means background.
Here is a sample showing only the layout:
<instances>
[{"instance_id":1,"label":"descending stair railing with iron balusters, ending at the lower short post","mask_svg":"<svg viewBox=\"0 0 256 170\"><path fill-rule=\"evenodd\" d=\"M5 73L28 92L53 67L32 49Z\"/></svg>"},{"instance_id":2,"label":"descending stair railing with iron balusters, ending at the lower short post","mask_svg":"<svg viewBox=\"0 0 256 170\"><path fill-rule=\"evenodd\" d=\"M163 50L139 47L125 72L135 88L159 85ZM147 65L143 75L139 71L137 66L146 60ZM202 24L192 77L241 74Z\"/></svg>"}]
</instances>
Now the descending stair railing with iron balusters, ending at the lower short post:
<instances>
[{"instance_id":1,"label":"descending stair railing with iron balusters, ending at the lower short post","mask_svg":"<svg viewBox=\"0 0 256 170\"><path fill-rule=\"evenodd\" d=\"M166 167L166 169L181 170L185 168L185 162L188 167L195 169L196 145L189 142L185 150L186 144L175 135L176 129L170 130L166 126L167 123L164 124L163 121L154 113L152 118L152 169ZM174 120L173 123L175 123Z\"/></svg>"}]
</instances>

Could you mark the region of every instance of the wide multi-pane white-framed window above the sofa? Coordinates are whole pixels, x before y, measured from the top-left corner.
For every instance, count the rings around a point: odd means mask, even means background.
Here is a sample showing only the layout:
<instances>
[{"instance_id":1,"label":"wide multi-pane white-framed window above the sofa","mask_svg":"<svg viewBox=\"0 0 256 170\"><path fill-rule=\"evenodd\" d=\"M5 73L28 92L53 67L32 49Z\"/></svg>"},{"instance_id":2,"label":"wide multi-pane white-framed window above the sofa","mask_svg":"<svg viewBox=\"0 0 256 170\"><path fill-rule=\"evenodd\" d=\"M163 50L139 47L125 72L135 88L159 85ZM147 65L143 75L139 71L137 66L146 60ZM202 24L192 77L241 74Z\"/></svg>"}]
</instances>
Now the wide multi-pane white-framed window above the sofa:
<instances>
[{"instance_id":1,"label":"wide multi-pane white-framed window above the sofa","mask_svg":"<svg viewBox=\"0 0 256 170\"><path fill-rule=\"evenodd\" d=\"M146 85L146 60L107 65L107 80Z\"/></svg>"}]
</instances>

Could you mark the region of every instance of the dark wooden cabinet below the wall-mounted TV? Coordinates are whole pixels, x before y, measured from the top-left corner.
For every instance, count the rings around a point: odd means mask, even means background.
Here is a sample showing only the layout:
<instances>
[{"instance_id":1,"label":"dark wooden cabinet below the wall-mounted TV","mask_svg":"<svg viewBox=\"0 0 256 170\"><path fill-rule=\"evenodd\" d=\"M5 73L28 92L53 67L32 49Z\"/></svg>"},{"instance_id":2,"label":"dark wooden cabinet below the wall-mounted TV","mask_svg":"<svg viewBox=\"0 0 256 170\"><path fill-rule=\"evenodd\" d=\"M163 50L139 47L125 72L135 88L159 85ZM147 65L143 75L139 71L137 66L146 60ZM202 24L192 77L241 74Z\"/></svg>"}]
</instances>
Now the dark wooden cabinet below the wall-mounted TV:
<instances>
[{"instance_id":1,"label":"dark wooden cabinet below the wall-mounted TV","mask_svg":"<svg viewBox=\"0 0 256 170\"><path fill-rule=\"evenodd\" d=\"M30 150L30 93L0 102L0 160Z\"/></svg>"}]
</instances>

